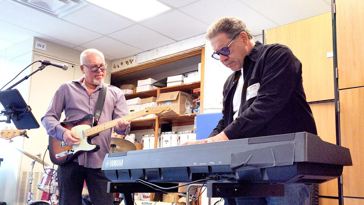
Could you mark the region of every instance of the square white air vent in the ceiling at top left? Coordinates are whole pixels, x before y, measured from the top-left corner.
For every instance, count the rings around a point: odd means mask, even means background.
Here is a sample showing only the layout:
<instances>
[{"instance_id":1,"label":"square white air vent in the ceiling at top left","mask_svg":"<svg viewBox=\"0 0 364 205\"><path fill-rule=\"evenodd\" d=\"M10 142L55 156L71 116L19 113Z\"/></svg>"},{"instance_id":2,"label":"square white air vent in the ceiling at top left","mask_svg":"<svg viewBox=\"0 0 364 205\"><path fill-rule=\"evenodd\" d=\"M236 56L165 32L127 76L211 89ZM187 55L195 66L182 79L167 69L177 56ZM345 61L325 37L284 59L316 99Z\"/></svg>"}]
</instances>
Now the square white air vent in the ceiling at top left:
<instances>
[{"instance_id":1,"label":"square white air vent in the ceiling at top left","mask_svg":"<svg viewBox=\"0 0 364 205\"><path fill-rule=\"evenodd\" d=\"M85 5L82 0L12 0L27 7L61 18Z\"/></svg>"}]
</instances>

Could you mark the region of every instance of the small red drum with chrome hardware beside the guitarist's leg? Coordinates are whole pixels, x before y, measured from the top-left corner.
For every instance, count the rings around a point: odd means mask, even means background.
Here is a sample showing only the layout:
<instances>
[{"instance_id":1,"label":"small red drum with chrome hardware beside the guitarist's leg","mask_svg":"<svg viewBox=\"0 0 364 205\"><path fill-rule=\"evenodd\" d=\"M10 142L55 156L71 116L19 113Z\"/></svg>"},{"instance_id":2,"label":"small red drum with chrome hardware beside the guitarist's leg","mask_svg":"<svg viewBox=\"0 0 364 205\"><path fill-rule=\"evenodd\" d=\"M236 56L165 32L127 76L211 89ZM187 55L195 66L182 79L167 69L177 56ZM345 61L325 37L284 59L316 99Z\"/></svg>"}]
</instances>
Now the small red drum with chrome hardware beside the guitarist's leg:
<instances>
[{"instance_id":1,"label":"small red drum with chrome hardware beside the guitarist's leg","mask_svg":"<svg viewBox=\"0 0 364 205\"><path fill-rule=\"evenodd\" d=\"M38 189L43 192L52 193L53 186L56 186L56 194L58 194L58 183L57 182L57 168L53 166L46 166L43 171L43 177L41 181L38 182ZM52 176L53 175L53 176ZM52 184L51 184L52 181Z\"/></svg>"}]
</instances>

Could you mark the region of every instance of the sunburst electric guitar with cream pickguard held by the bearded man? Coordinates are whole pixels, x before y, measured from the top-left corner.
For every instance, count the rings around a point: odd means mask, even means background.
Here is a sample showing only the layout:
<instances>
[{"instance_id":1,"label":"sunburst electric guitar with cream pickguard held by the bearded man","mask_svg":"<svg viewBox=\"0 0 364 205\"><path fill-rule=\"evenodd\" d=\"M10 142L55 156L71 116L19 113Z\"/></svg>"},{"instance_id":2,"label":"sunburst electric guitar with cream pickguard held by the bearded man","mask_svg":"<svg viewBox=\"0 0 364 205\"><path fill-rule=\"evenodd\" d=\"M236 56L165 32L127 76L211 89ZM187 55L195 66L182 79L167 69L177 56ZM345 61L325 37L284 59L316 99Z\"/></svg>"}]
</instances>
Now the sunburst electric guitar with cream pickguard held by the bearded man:
<instances>
[{"instance_id":1,"label":"sunburst electric guitar with cream pickguard held by the bearded man","mask_svg":"<svg viewBox=\"0 0 364 205\"><path fill-rule=\"evenodd\" d=\"M93 115L86 115L76 123L61 122L62 127L75 132L76 135L79 136L80 139L78 142L80 142L80 144L73 146L67 145L66 142L56 140L52 136L49 136L49 154L51 161L56 165L63 165L85 151L98 151L100 146L91 144L92 137L106 129L114 127L116 120L124 119L130 121L144 115L158 114L163 111L169 111L170 109L171 107L169 105L147 107L142 111L131 113L130 115L96 125L95 127L92 127L92 124L94 123Z\"/></svg>"}]
</instances>

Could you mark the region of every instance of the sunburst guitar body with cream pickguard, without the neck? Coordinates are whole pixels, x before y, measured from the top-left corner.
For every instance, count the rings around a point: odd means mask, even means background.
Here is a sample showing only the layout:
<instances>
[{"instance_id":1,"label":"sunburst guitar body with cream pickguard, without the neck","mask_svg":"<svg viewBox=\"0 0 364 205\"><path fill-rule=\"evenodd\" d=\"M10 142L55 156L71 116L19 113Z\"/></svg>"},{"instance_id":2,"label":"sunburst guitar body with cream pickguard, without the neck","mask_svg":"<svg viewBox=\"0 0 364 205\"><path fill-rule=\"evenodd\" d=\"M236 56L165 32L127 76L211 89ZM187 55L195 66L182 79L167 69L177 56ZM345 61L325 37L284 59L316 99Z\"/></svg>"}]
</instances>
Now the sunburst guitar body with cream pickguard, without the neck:
<instances>
[{"instance_id":1,"label":"sunburst guitar body with cream pickguard, without the neck","mask_svg":"<svg viewBox=\"0 0 364 205\"><path fill-rule=\"evenodd\" d=\"M49 154L51 161L56 165L63 165L64 163L74 160L75 157L85 151L98 151L100 149L100 146L98 146L97 144L91 144L92 137L89 136L85 138L83 135L83 131L92 127L93 123L94 116L92 115L86 115L76 123L62 122L62 127L76 133L76 135L80 138L80 144L74 146L67 145L63 141L58 141L52 136L49 136ZM62 153L67 152L71 149L73 149L73 152L71 154L67 154L64 156L62 155Z\"/></svg>"}]
</instances>

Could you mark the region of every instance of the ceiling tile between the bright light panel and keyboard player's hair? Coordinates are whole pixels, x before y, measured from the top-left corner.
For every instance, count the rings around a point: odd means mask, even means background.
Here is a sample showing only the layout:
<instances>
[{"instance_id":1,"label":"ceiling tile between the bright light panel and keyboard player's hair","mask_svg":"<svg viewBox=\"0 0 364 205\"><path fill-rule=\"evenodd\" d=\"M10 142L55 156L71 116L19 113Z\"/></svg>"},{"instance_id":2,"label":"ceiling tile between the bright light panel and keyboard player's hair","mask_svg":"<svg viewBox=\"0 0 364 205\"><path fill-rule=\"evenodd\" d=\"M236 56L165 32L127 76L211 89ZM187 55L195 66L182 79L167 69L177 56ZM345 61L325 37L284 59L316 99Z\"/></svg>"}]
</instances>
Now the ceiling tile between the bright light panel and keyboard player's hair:
<instances>
[{"instance_id":1,"label":"ceiling tile between the bright light panel and keyboard player's hair","mask_svg":"<svg viewBox=\"0 0 364 205\"><path fill-rule=\"evenodd\" d=\"M207 25L180 11L172 11L141 23L175 40L183 40L203 34Z\"/></svg>"}]
</instances>

